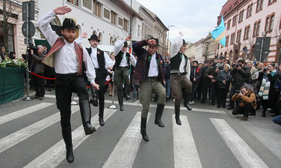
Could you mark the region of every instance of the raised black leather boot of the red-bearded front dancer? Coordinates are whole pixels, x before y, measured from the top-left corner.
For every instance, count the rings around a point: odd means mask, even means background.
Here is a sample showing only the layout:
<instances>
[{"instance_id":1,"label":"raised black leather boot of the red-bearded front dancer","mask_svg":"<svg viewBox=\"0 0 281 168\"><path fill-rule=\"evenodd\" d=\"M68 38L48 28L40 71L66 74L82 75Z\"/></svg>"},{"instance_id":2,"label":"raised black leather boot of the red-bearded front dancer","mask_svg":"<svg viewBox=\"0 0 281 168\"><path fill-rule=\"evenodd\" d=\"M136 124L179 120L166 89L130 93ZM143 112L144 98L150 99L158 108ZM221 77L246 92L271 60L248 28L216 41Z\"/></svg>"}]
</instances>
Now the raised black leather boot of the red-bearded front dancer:
<instances>
[{"instance_id":1,"label":"raised black leather boot of the red-bearded front dancer","mask_svg":"<svg viewBox=\"0 0 281 168\"><path fill-rule=\"evenodd\" d=\"M91 125L91 107L88 100L79 102L81 119L86 135L90 135L96 131L96 128Z\"/></svg>"}]
</instances>

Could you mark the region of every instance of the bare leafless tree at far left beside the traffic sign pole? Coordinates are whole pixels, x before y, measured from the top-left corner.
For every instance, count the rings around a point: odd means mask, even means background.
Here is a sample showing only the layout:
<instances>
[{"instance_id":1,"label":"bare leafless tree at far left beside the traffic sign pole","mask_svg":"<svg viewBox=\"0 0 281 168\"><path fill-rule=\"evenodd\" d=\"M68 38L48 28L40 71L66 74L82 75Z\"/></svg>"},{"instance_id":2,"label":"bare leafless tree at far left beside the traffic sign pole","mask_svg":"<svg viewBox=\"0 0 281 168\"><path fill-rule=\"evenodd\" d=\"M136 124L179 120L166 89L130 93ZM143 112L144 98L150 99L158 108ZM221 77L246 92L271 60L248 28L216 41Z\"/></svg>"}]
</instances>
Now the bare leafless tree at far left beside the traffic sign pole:
<instances>
[{"instance_id":1,"label":"bare leafless tree at far left beside the traffic sign pole","mask_svg":"<svg viewBox=\"0 0 281 168\"><path fill-rule=\"evenodd\" d=\"M0 2L1 3L1 2ZM10 29L13 29L14 25L19 24L18 14L19 11L19 4L14 2L13 0L6 1L3 0L3 16L0 16L0 26L3 27L3 34L4 34L4 48L6 50L5 54L8 55L9 48L8 48L8 32Z\"/></svg>"}]
</instances>

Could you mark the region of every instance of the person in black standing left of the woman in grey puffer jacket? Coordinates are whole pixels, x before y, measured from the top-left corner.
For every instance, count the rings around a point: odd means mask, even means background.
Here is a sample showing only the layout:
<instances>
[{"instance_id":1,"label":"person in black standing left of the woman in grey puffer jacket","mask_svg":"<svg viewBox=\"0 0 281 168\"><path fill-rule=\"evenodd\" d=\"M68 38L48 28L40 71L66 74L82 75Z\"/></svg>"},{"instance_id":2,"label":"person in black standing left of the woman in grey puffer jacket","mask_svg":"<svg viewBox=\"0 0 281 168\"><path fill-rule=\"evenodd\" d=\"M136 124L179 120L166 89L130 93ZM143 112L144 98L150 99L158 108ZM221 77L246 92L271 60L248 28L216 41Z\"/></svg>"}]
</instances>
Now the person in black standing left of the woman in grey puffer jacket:
<instances>
[{"instance_id":1,"label":"person in black standing left of the woman in grey puffer jacket","mask_svg":"<svg viewBox=\"0 0 281 168\"><path fill-rule=\"evenodd\" d=\"M204 73L203 86L202 86L202 100L201 103L205 103L207 99L207 93L209 89L209 99L211 99L212 105L215 105L215 88L216 88L216 77L219 73L219 68L216 66L209 67ZM211 91L210 91L211 90Z\"/></svg>"}]
</instances>

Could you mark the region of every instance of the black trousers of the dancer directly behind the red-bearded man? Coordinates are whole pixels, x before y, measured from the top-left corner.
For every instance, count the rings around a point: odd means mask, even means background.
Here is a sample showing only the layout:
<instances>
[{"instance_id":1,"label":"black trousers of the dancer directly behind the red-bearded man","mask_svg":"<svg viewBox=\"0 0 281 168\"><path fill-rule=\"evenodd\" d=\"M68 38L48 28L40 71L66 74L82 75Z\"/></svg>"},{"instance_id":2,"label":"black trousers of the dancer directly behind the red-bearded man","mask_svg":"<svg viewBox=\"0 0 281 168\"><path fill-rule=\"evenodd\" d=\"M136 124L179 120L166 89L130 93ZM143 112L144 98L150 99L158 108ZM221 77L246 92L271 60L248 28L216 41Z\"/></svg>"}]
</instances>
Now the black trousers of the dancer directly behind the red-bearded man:
<instances>
[{"instance_id":1,"label":"black trousers of the dancer directly behind the red-bearded man","mask_svg":"<svg viewBox=\"0 0 281 168\"><path fill-rule=\"evenodd\" d=\"M99 90L98 90L98 98L99 101L104 101L105 100L105 79L106 75L102 73L100 70L96 70L96 82L99 85Z\"/></svg>"}]
</instances>

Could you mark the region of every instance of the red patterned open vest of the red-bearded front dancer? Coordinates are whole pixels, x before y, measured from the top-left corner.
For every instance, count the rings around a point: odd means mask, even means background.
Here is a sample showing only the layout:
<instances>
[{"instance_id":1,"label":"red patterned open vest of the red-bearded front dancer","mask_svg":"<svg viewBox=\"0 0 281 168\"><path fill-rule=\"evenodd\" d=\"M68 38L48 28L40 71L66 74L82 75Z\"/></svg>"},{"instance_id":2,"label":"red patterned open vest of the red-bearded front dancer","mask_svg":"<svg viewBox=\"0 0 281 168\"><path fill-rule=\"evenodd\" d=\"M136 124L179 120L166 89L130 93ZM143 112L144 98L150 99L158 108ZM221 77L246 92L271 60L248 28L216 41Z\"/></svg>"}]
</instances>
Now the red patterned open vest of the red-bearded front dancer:
<instances>
[{"instance_id":1,"label":"red patterned open vest of the red-bearded front dancer","mask_svg":"<svg viewBox=\"0 0 281 168\"><path fill-rule=\"evenodd\" d=\"M65 41L63 37L58 37L56 39L56 42L54 45L51 47L51 50L47 54L47 56L42 60L42 63L55 68L55 59L54 59L54 52L56 52L58 49L62 48L65 45ZM74 50L76 53L76 56L78 58L78 63L79 63L79 70L78 74L80 75L82 73L82 61L83 61L83 47L76 42L74 42Z\"/></svg>"}]
</instances>

